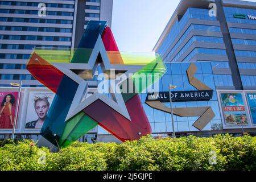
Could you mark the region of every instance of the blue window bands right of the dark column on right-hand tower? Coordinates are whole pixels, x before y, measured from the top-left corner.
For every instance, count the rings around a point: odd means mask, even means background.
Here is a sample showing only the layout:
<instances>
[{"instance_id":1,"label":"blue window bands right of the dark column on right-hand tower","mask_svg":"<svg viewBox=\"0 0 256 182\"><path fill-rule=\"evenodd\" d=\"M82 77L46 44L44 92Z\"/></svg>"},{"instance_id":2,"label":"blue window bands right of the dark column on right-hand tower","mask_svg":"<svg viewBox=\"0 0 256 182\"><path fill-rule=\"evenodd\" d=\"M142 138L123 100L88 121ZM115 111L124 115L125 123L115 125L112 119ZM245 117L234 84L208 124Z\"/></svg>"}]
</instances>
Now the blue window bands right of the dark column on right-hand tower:
<instances>
[{"instance_id":1,"label":"blue window bands right of the dark column on right-hand tower","mask_svg":"<svg viewBox=\"0 0 256 182\"><path fill-rule=\"evenodd\" d=\"M255 16L256 10L253 9L242 9L238 7L224 7L225 16L227 22L232 23L242 23L242 24L248 24L248 28L245 28L245 26L239 28L239 27L229 27L229 32L232 33L232 43L236 47L240 47L239 49L234 49L234 53L237 57L238 68L240 69L241 74L241 81L243 89L249 88L255 88L256 87L256 72L254 75L252 75L252 70L256 69L256 63L243 63L246 59L249 59L249 62L251 59L256 57L256 40L253 38L254 35L256 35L256 28L253 28L253 25L256 24L256 21L254 19L250 19L249 16ZM242 15L243 18L237 18L236 14ZM245 38L246 39L245 39ZM243 46L243 47L241 47ZM243 69L243 72L241 72L241 69ZM248 72L249 74L246 75Z\"/></svg>"}]
</instances>

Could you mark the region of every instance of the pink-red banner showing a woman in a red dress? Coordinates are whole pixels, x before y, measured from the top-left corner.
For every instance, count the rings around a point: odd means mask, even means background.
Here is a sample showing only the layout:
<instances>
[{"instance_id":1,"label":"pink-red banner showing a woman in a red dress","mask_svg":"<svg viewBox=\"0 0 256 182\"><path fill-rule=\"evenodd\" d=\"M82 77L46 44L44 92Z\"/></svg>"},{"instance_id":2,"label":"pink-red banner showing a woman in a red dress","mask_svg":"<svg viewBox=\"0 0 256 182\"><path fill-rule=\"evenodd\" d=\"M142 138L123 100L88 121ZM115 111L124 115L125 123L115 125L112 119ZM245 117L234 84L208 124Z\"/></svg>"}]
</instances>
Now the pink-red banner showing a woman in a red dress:
<instances>
[{"instance_id":1,"label":"pink-red banner showing a woman in a red dress","mask_svg":"<svg viewBox=\"0 0 256 182\"><path fill-rule=\"evenodd\" d=\"M0 129L13 129L18 93L0 91Z\"/></svg>"}]
</instances>

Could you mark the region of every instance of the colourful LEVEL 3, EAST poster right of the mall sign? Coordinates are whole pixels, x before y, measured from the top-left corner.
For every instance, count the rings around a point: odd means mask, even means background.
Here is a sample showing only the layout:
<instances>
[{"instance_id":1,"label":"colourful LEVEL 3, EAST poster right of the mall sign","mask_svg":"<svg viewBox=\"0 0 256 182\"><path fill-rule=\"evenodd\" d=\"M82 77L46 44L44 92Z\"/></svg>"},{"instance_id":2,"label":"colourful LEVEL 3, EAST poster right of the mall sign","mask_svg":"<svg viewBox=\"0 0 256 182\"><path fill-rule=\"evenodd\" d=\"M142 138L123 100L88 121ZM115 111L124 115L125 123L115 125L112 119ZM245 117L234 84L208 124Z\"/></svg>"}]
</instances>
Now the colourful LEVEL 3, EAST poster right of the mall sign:
<instances>
[{"instance_id":1,"label":"colourful LEVEL 3, EAST poster right of the mall sign","mask_svg":"<svg viewBox=\"0 0 256 182\"><path fill-rule=\"evenodd\" d=\"M247 125L245 105L241 93L221 93L226 125Z\"/></svg>"}]
</instances>

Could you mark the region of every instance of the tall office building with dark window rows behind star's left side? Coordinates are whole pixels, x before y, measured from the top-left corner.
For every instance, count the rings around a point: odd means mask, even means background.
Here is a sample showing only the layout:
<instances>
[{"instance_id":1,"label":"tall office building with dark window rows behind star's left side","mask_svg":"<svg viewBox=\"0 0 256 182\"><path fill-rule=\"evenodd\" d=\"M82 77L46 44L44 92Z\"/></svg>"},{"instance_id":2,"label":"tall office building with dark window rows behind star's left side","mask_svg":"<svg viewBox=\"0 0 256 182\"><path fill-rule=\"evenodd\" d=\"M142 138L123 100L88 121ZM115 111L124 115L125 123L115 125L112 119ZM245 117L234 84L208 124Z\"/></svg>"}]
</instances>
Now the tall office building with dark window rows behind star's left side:
<instances>
[{"instance_id":1,"label":"tall office building with dark window rows behind star's left side","mask_svg":"<svg viewBox=\"0 0 256 182\"><path fill-rule=\"evenodd\" d=\"M89 20L111 27L112 7L113 0L0 1L0 86L43 86L26 70L32 49L76 48Z\"/></svg>"}]
</instances>

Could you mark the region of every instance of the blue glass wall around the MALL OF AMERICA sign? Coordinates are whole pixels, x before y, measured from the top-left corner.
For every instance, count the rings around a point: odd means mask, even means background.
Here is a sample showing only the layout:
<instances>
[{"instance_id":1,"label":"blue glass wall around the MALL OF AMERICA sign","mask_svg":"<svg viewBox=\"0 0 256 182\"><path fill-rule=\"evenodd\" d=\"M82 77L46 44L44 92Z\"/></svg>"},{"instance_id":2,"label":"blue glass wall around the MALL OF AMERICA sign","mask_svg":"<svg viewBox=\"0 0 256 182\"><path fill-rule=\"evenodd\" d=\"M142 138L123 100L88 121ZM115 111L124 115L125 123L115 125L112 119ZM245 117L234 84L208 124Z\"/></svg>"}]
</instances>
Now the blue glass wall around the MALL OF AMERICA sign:
<instances>
[{"instance_id":1,"label":"blue glass wall around the MALL OF AMERICA sign","mask_svg":"<svg viewBox=\"0 0 256 182\"><path fill-rule=\"evenodd\" d=\"M204 130L212 130L214 124L221 124L220 110L218 108L218 101L216 95L216 89L214 84L214 78L212 74L212 67L210 62L195 63L198 68L195 77L201 82L209 86L214 90L213 97L210 101L192 101L192 102L174 102L174 107L212 107L215 117L212 121L204 128ZM189 84L187 69L190 63L167 63L167 73L159 80L160 92L168 92L168 85L176 85L177 88L172 91L188 91L197 90ZM152 109L150 106L145 104L147 94L141 94L141 101L143 103L144 110L152 127L153 133L166 133L172 132L171 114L164 113L163 111ZM170 107L170 102L164 103ZM179 117L174 115L175 131L199 131L192 124L199 117Z\"/></svg>"}]
</instances>

